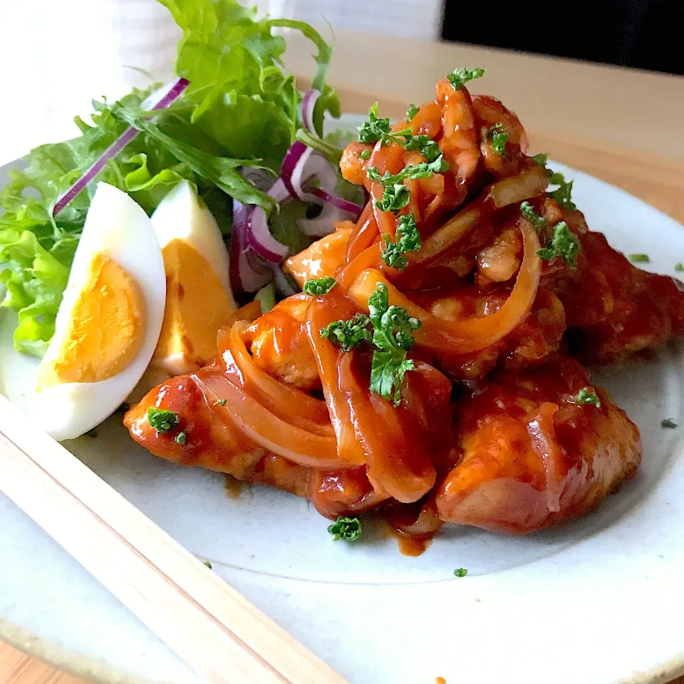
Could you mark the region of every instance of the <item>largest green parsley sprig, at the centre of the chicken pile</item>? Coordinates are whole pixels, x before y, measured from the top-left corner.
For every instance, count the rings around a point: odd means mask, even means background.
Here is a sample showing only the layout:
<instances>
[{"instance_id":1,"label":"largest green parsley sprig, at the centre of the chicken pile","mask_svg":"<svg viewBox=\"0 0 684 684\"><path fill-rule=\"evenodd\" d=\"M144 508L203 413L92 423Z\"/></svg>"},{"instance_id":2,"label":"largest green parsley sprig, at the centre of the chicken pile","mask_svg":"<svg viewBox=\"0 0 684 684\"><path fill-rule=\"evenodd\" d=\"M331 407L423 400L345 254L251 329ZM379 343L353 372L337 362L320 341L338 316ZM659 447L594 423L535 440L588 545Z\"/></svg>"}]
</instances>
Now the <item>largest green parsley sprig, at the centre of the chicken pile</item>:
<instances>
[{"instance_id":1,"label":"largest green parsley sprig, at the centre of the chicken pile","mask_svg":"<svg viewBox=\"0 0 684 684\"><path fill-rule=\"evenodd\" d=\"M393 400L398 406L404 375L414 368L413 360L406 358L406 354L413 346L413 333L421 323L409 316L406 309L390 306L388 289L383 283L378 283L368 298L368 310L376 347L371 361L371 392Z\"/></svg>"}]
</instances>

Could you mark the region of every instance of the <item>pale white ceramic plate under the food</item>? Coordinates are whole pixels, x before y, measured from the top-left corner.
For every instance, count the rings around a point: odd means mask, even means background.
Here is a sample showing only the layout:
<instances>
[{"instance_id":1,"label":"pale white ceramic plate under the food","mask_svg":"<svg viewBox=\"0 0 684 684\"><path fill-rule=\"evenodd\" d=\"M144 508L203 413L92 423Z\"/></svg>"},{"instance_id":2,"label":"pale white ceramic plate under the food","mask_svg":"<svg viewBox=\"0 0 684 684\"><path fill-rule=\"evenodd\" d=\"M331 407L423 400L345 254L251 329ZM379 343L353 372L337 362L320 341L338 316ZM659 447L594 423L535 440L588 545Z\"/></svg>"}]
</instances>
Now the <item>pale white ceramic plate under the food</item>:
<instances>
[{"instance_id":1,"label":"pale white ceramic plate under the food","mask_svg":"<svg viewBox=\"0 0 684 684\"><path fill-rule=\"evenodd\" d=\"M594 230L675 274L680 224L554 166L574 178ZM26 361L8 351L9 316L0 323L1 372ZM289 494L254 486L230 497L222 475L152 457L116 420L68 447L353 684L661 682L684 671L684 427L660 427L683 423L683 361L670 346L596 372L644 444L641 472L597 512L523 538L447 527L419 558L400 556L380 529L334 543L326 520ZM2 497L0 636L100 681L195 681Z\"/></svg>"}]
</instances>

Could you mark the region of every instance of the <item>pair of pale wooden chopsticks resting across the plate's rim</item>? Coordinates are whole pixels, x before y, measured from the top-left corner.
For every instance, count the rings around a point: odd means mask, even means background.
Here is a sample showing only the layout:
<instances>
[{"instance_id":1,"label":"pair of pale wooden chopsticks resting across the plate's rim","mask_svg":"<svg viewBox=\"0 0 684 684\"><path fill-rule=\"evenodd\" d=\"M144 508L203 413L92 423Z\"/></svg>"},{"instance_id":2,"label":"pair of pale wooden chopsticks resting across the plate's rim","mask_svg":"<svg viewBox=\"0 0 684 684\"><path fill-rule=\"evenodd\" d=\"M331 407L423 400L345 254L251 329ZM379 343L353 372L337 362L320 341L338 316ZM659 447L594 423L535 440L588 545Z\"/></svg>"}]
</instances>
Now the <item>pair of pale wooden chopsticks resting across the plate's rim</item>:
<instances>
[{"instance_id":1,"label":"pair of pale wooden chopsticks resting across the plate's rim","mask_svg":"<svg viewBox=\"0 0 684 684\"><path fill-rule=\"evenodd\" d=\"M0 490L212 684L345 684L0 397Z\"/></svg>"}]
</instances>

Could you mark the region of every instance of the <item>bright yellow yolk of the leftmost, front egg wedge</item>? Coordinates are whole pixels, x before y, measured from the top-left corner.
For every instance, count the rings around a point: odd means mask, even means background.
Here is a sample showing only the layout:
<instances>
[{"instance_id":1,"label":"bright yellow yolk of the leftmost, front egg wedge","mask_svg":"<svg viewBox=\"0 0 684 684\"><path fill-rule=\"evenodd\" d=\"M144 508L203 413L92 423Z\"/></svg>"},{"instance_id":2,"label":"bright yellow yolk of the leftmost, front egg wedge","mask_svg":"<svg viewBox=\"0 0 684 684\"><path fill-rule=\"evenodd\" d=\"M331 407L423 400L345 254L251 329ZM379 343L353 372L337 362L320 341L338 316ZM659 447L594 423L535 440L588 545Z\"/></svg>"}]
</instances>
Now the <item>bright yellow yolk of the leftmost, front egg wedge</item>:
<instances>
[{"instance_id":1,"label":"bright yellow yolk of the leftmost, front egg wedge","mask_svg":"<svg viewBox=\"0 0 684 684\"><path fill-rule=\"evenodd\" d=\"M144 330L140 286L106 254L95 254L63 341L38 369L38 386L98 383L117 375L137 356Z\"/></svg>"}]
</instances>

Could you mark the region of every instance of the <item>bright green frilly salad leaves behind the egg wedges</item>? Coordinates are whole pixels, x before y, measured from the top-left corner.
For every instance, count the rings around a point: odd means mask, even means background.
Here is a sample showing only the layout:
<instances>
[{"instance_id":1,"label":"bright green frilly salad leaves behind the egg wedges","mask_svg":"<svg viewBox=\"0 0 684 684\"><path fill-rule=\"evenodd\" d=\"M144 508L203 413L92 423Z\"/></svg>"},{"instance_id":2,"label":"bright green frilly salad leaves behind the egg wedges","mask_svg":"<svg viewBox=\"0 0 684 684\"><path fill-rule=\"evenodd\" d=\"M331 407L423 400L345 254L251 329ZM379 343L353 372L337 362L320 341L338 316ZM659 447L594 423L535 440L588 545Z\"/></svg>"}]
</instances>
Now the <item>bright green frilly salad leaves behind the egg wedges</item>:
<instances>
[{"instance_id":1,"label":"bright green frilly salad leaves behind the egg wedges","mask_svg":"<svg viewBox=\"0 0 684 684\"><path fill-rule=\"evenodd\" d=\"M294 76L283 71L286 43L274 28L292 28L314 43L313 87L321 91L314 110L318 134L326 111L340 114L337 95L325 83L331 48L308 24L257 19L256 8L237 0L160 1L183 31L176 71L190 81L185 93L153 120L143 101L159 84L114 103L93 100L91 123L75 119L81 135L31 150L1 192L0 281L6 296L0 306L19 314L17 351L43 356L53 336L95 183L56 217L54 204L129 125L140 134L108 161L97 180L128 192L148 214L173 185L190 180L228 233L232 197L266 212L274 208L238 167L261 167L275 176L301 126L302 95ZM301 236L284 242L299 244Z\"/></svg>"}]
</instances>

